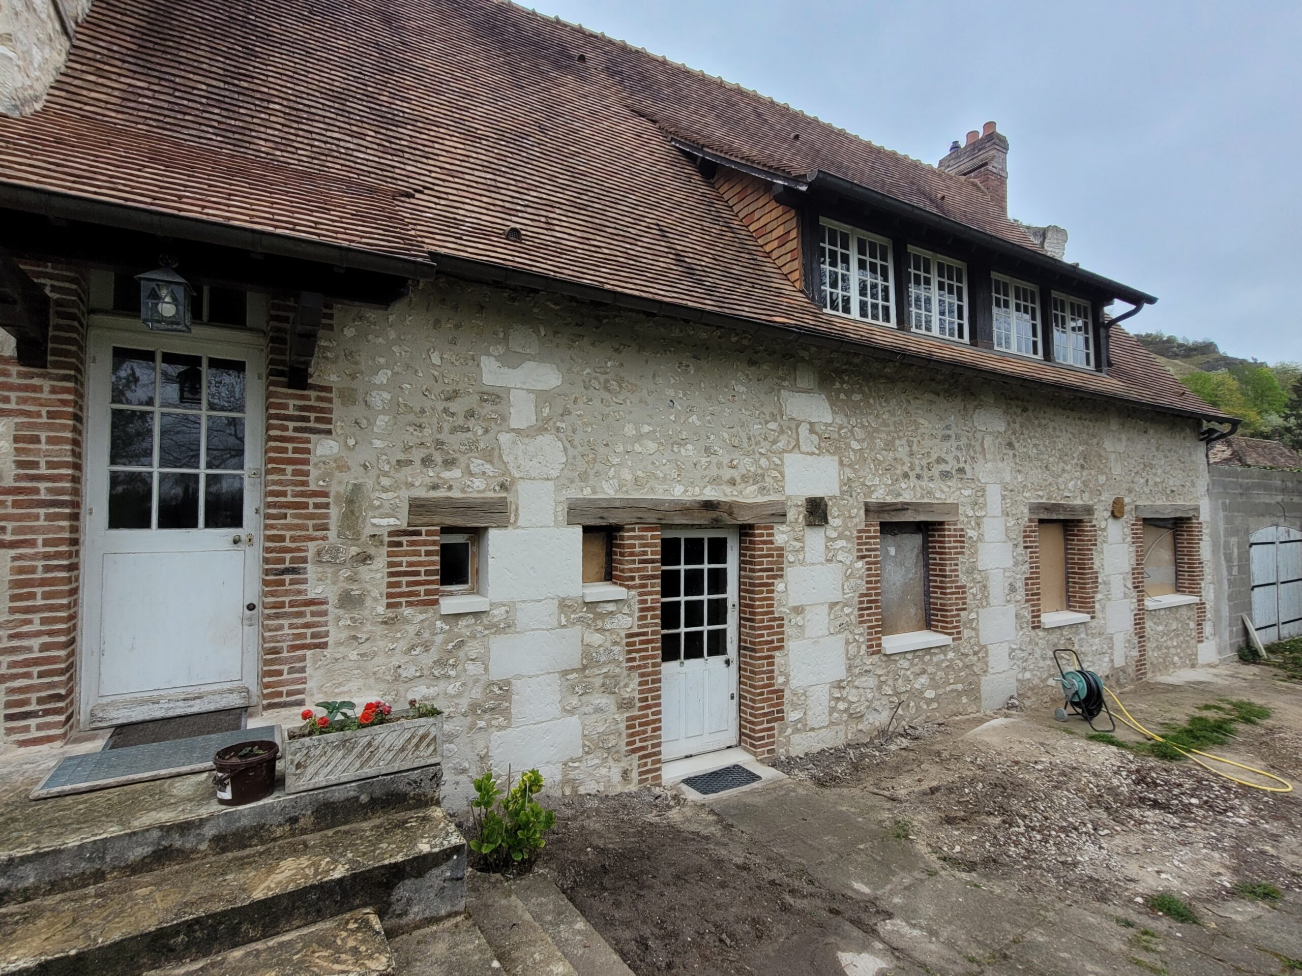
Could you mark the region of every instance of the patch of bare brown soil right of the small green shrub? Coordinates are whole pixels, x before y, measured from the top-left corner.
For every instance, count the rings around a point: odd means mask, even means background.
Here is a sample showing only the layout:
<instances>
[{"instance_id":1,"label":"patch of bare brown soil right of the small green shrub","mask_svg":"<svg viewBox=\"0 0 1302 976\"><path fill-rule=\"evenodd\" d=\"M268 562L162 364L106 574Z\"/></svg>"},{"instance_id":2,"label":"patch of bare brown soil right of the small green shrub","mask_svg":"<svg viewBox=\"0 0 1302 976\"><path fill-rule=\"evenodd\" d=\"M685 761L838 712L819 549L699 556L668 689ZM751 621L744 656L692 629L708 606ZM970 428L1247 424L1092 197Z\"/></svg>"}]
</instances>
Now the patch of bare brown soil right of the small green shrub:
<instances>
[{"instance_id":1,"label":"patch of bare brown soil right of the small green shrub","mask_svg":"<svg viewBox=\"0 0 1302 976\"><path fill-rule=\"evenodd\" d=\"M828 891L708 808L664 790L564 804L544 865L637 973L837 973L870 902ZM850 933L852 937L858 933Z\"/></svg>"}]
</instances>

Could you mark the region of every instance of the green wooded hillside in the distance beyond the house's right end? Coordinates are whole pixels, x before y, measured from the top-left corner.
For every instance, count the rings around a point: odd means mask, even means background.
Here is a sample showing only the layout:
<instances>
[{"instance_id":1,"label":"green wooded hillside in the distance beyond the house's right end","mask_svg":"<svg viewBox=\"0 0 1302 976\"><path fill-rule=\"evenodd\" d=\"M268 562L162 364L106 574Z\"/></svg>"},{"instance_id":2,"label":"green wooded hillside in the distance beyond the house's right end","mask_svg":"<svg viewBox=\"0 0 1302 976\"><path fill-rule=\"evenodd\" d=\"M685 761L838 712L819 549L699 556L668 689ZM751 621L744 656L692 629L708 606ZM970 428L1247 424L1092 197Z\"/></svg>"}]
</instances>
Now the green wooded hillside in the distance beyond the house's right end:
<instances>
[{"instance_id":1,"label":"green wooded hillside in the distance beyond the house's right end","mask_svg":"<svg viewBox=\"0 0 1302 976\"><path fill-rule=\"evenodd\" d=\"M1302 363L1262 363L1226 355L1211 340L1161 332L1135 338L1185 386L1226 414L1243 418L1240 433L1302 450Z\"/></svg>"}]
</instances>

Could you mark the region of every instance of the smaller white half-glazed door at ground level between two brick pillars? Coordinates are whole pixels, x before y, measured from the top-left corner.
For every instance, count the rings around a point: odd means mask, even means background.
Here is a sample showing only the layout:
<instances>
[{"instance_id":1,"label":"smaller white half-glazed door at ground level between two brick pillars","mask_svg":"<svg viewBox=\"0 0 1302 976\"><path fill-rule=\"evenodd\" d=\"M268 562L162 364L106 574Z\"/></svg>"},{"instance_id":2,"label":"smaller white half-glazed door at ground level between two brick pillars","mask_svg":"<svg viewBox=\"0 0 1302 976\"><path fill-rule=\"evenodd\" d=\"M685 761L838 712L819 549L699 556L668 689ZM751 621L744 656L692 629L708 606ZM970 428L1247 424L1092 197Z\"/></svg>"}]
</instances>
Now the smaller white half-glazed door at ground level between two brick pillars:
<instances>
[{"instance_id":1,"label":"smaller white half-glazed door at ground level between two brick pillars","mask_svg":"<svg viewBox=\"0 0 1302 976\"><path fill-rule=\"evenodd\" d=\"M737 744L737 531L663 530L661 759Z\"/></svg>"}]
</instances>

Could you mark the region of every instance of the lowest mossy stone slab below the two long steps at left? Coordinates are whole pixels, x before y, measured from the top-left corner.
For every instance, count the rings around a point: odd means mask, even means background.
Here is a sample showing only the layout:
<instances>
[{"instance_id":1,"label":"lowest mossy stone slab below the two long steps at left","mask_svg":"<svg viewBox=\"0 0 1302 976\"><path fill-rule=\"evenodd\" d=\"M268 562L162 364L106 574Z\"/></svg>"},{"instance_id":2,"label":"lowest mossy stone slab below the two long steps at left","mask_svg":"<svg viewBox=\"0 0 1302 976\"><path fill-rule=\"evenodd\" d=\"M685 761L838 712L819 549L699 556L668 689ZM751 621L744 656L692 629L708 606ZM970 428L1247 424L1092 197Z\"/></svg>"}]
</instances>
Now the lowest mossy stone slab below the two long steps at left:
<instances>
[{"instance_id":1,"label":"lowest mossy stone slab below the two long steps at left","mask_svg":"<svg viewBox=\"0 0 1302 976\"><path fill-rule=\"evenodd\" d=\"M458 916L460 917L460 916ZM391 976L393 953L370 908L145 976Z\"/></svg>"}]
</instances>

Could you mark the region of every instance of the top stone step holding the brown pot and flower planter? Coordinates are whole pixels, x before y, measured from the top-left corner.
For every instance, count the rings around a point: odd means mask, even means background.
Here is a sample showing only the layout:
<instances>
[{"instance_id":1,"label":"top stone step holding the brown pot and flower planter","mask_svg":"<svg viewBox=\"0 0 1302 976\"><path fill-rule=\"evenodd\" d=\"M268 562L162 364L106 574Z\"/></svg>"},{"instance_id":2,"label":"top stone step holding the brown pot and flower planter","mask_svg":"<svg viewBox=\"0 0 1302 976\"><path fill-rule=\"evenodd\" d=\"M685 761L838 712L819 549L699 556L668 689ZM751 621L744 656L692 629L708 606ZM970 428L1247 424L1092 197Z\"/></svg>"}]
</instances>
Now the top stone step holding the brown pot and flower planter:
<instances>
[{"instance_id":1,"label":"top stone step holding the brown pot and flower planter","mask_svg":"<svg viewBox=\"0 0 1302 976\"><path fill-rule=\"evenodd\" d=\"M0 906L439 803L441 766L223 807L212 774L0 796Z\"/></svg>"}]
</instances>

